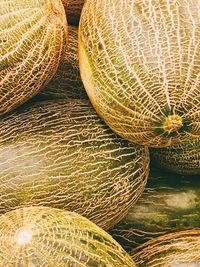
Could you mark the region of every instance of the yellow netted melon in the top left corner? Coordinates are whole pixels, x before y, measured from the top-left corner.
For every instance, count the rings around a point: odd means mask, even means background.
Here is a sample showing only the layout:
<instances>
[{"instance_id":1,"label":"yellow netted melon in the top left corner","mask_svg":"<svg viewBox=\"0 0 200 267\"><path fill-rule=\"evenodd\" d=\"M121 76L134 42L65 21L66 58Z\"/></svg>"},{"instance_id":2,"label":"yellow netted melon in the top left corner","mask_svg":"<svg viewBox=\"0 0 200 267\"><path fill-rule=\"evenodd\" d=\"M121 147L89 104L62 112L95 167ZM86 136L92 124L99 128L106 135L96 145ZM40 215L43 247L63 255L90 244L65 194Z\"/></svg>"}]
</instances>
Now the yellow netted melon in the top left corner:
<instances>
[{"instance_id":1,"label":"yellow netted melon in the top left corner","mask_svg":"<svg viewBox=\"0 0 200 267\"><path fill-rule=\"evenodd\" d=\"M66 50L67 24L61 0L0 3L0 114L41 90Z\"/></svg>"}]
</instances>

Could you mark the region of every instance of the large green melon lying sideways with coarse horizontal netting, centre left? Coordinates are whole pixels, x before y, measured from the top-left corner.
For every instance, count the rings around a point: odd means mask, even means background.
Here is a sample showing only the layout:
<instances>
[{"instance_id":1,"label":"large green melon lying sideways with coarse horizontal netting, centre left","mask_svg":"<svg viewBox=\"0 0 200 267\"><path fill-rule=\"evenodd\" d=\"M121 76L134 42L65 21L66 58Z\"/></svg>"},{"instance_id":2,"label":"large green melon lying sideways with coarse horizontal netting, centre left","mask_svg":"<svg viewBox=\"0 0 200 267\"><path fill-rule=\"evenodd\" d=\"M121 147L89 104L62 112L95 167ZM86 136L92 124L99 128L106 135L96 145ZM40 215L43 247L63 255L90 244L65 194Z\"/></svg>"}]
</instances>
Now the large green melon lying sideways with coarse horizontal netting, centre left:
<instances>
[{"instance_id":1,"label":"large green melon lying sideways with coarse horizontal netting, centre left","mask_svg":"<svg viewBox=\"0 0 200 267\"><path fill-rule=\"evenodd\" d=\"M0 213L76 211L109 228L141 195L147 148L116 136L88 101L43 101L0 121Z\"/></svg>"}]
</instances>

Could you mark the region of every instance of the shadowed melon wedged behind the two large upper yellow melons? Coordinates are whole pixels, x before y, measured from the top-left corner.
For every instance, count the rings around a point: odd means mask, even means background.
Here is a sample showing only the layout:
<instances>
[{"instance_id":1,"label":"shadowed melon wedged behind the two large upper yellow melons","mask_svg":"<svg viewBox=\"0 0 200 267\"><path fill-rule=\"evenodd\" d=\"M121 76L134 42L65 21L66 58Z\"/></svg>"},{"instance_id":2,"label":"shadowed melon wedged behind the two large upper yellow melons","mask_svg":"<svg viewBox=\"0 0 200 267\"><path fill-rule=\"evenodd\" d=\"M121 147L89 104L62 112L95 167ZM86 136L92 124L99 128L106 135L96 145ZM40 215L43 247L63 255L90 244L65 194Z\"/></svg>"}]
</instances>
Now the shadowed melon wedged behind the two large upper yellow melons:
<instances>
[{"instance_id":1,"label":"shadowed melon wedged behind the two large upper yellow melons","mask_svg":"<svg viewBox=\"0 0 200 267\"><path fill-rule=\"evenodd\" d=\"M87 98L78 63L78 28L68 27L68 47L51 82L34 100Z\"/></svg>"}]
</instances>

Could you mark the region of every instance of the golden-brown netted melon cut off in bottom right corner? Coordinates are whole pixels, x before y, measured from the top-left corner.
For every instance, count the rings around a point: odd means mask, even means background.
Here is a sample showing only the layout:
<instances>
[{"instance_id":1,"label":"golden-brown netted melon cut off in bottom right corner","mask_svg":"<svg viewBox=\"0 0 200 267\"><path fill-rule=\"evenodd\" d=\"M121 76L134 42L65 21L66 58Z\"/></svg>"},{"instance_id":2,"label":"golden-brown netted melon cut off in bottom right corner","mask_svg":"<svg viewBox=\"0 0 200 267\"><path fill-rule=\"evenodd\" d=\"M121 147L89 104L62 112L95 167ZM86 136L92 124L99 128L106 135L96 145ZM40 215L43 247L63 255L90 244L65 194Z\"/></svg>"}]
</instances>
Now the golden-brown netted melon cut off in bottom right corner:
<instances>
[{"instance_id":1,"label":"golden-brown netted melon cut off in bottom right corner","mask_svg":"<svg viewBox=\"0 0 200 267\"><path fill-rule=\"evenodd\" d=\"M200 230L155 238L130 253L137 267L199 267Z\"/></svg>"}]
</instances>

